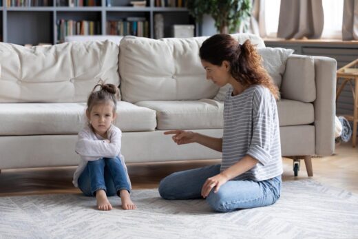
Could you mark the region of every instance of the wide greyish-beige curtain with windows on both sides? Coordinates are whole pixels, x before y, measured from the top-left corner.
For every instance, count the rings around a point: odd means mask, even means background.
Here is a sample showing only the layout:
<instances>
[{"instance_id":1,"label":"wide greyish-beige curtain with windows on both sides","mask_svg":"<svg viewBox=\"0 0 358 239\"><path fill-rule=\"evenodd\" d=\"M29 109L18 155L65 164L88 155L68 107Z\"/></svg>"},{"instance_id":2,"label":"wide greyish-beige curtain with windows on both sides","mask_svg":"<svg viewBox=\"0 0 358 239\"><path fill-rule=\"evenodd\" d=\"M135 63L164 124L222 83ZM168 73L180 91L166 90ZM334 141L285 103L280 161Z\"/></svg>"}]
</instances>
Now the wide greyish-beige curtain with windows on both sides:
<instances>
[{"instance_id":1,"label":"wide greyish-beige curtain with windows on both sides","mask_svg":"<svg viewBox=\"0 0 358 239\"><path fill-rule=\"evenodd\" d=\"M324 15L322 0L282 0L277 37L319 39Z\"/></svg>"}]
</instances>

